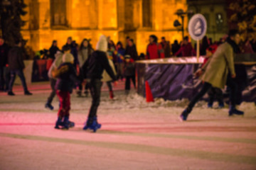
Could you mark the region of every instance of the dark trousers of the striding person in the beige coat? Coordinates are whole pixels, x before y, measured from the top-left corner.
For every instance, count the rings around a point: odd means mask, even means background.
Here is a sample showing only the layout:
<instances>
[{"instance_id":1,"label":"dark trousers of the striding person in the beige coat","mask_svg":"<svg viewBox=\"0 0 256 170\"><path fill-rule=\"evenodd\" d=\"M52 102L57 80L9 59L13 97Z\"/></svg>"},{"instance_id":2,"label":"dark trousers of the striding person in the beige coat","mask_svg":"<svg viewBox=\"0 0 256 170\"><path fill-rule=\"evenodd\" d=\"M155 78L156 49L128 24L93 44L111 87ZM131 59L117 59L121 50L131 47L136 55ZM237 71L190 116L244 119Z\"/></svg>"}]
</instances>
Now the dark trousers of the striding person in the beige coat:
<instances>
[{"instance_id":1,"label":"dark trousers of the striding person in the beige coat","mask_svg":"<svg viewBox=\"0 0 256 170\"><path fill-rule=\"evenodd\" d=\"M230 75L228 75L226 85L230 88L230 104L231 106L235 106L235 103L236 103L235 94L238 91L238 85L235 83L234 79L230 77ZM188 104L188 108L192 110L193 106L195 106L195 104L199 101L199 99L202 98L211 87L212 87L211 84L205 82L203 84L201 91L198 94L196 94L196 96Z\"/></svg>"}]
</instances>

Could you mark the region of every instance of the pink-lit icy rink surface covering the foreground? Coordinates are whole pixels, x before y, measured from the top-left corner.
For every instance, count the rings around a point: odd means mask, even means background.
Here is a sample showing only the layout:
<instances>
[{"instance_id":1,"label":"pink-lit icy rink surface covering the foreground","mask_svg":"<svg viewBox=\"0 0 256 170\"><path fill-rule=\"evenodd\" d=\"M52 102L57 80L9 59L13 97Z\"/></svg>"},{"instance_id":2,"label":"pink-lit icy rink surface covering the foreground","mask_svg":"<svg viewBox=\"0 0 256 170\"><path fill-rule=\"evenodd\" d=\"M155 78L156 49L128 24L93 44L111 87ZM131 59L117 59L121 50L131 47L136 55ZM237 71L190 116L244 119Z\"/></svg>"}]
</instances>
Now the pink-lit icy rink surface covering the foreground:
<instances>
[{"instance_id":1,"label":"pink-lit icy rink surface covering the foreground","mask_svg":"<svg viewBox=\"0 0 256 170\"><path fill-rule=\"evenodd\" d=\"M180 122L188 100L145 98L114 87L115 100L103 86L98 109L102 129L82 130L90 97L71 97L70 130L55 130L54 111L44 108L46 82L28 86L33 96L0 93L0 169L256 169L256 107L242 103L245 116L228 117L228 106L209 109L199 102ZM216 103L215 103L216 104ZM215 105L217 107L217 105Z\"/></svg>"}]
</instances>

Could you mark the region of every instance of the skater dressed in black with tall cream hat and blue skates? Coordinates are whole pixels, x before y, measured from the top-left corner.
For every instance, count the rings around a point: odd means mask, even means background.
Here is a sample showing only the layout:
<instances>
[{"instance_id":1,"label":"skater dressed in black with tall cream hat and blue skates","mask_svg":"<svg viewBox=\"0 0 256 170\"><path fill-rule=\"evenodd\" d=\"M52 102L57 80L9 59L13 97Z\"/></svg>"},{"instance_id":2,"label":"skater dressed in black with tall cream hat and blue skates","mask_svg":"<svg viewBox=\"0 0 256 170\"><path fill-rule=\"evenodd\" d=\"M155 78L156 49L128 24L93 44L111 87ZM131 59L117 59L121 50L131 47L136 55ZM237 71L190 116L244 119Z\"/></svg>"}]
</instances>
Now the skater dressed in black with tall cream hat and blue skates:
<instances>
[{"instance_id":1,"label":"skater dressed in black with tall cream hat and blue skates","mask_svg":"<svg viewBox=\"0 0 256 170\"><path fill-rule=\"evenodd\" d=\"M90 94L92 96L92 105L90 107L89 115L87 117L87 122L83 130L88 128L96 132L97 129L101 127L97 123L97 108L100 105L100 91L102 86L102 73L105 69L107 74L110 74L110 77L113 80L116 80L114 72L110 67L110 64L107 59L107 38L105 35L100 36L100 40L97 42L95 52L90 55L87 60L87 79L90 88Z\"/></svg>"}]
</instances>

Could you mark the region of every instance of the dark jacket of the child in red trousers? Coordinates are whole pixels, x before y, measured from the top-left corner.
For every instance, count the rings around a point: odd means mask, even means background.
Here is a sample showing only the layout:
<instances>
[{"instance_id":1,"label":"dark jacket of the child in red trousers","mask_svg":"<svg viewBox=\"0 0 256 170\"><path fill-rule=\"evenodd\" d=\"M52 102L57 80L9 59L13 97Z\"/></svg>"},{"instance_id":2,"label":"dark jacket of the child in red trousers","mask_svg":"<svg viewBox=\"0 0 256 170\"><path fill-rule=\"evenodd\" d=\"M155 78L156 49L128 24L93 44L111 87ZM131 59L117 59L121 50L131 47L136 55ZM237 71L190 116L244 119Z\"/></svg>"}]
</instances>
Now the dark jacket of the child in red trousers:
<instances>
[{"instance_id":1,"label":"dark jacket of the child in red trousers","mask_svg":"<svg viewBox=\"0 0 256 170\"><path fill-rule=\"evenodd\" d=\"M78 81L78 78L73 64L68 62L60 64L60 67L65 66L68 66L68 70L60 74L60 76L58 76L55 89L60 91L69 91L71 94L73 86L75 86L75 81ZM60 67L58 67L58 69L60 69Z\"/></svg>"}]
</instances>

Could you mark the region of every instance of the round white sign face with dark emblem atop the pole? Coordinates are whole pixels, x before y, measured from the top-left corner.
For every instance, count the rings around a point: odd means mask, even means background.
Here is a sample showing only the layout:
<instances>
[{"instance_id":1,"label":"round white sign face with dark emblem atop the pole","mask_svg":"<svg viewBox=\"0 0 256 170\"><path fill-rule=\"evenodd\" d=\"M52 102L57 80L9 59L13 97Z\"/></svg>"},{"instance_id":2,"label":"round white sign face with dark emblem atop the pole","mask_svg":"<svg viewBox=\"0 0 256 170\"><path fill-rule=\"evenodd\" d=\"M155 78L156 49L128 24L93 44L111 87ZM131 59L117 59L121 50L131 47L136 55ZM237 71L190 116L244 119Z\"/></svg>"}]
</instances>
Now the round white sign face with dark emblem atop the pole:
<instances>
[{"instance_id":1,"label":"round white sign face with dark emblem atop the pole","mask_svg":"<svg viewBox=\"0 0 256 170\"><path fill-rule=\"evenodd\" d=\"M193 40L201 40L206 35L206 18L200 13L192 16L188 23L188 33Z\"/></svg>"}]
</instances>

